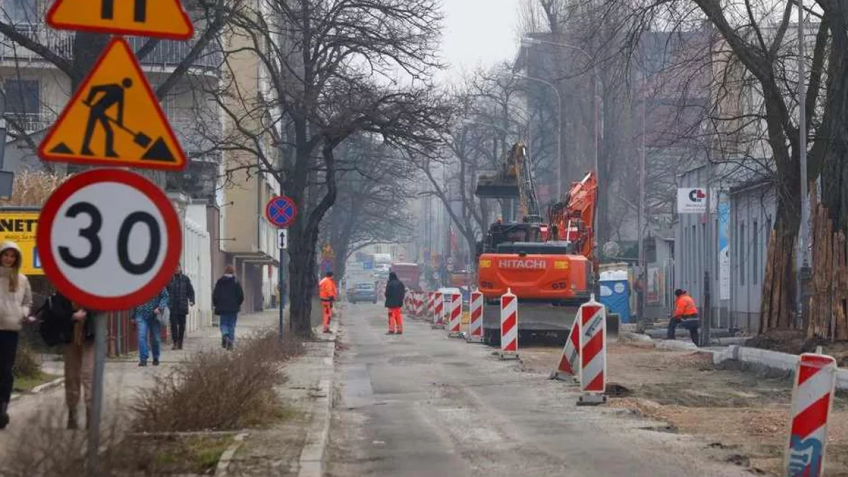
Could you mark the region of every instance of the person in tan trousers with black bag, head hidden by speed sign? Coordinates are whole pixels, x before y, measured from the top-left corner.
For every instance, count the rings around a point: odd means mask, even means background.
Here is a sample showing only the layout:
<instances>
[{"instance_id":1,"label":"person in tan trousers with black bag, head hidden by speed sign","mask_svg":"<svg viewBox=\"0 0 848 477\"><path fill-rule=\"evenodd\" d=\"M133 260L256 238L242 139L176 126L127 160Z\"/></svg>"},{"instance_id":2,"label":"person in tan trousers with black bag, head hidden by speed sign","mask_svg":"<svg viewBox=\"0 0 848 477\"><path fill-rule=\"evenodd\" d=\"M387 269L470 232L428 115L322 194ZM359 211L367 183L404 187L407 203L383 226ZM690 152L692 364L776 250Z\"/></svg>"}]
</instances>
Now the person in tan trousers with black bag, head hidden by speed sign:
<instances>
[{"instance_id":1,"label":"person in tan trousers with black bag, head hidden by speed sign","mask_svg":"<svg viewBox=\"0 0 848 477\"><path fill-rule=\"evenodd\" d=\"M52 323L67 330L64 337L64 402L68 407L68 429L77 429L80 390L86 403L86 429L92 415L92 376L94 374L94 317L89 311L59 293L47 298Z\"/></svg>"}]
</instances>

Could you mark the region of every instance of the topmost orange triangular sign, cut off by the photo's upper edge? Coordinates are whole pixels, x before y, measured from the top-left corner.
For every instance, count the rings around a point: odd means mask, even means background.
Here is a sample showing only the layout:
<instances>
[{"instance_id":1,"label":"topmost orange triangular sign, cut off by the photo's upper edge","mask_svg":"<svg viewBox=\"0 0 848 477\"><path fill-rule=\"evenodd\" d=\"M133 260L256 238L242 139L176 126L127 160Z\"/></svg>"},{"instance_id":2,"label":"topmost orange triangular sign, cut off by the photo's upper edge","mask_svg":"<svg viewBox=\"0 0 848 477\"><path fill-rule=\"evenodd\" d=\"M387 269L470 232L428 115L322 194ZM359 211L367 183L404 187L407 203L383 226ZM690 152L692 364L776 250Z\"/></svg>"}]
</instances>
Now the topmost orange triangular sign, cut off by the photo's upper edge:
<instances>
[{"instance_id":1,"label":"topmost orange triangular sign, cut off by the photo's upper edge","mask_svg":"<svg viewBox=\"0 0 848 477\"><path fill-rule=\"evenodd\" d=\"M187 40L192 20L180 0L55 0L47 25L58 30Z\"/></svg>"}]
</instances>

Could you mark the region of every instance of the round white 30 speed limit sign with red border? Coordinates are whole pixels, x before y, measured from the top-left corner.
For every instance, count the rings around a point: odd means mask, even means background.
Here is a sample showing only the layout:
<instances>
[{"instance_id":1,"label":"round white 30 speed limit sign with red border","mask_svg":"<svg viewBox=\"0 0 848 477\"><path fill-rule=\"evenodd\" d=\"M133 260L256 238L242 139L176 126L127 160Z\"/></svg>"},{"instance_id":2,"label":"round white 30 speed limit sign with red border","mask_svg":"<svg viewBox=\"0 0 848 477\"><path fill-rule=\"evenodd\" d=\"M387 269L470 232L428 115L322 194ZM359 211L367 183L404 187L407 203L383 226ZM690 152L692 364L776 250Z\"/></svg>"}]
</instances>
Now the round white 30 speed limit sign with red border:
<instances>
[{"instance_id":1,"label":"round white 30 speed limit sign with red border","mask_svg":"<svg viewBox=\"0 0 848 477\"><path fill-rule=\"evenodd\" d=\"M36 242L56 289L93 310L127 310L168 284L182 248L180 220L153 182L97 169L70 177L42 208Z\"/></svg>"}]
</instances>

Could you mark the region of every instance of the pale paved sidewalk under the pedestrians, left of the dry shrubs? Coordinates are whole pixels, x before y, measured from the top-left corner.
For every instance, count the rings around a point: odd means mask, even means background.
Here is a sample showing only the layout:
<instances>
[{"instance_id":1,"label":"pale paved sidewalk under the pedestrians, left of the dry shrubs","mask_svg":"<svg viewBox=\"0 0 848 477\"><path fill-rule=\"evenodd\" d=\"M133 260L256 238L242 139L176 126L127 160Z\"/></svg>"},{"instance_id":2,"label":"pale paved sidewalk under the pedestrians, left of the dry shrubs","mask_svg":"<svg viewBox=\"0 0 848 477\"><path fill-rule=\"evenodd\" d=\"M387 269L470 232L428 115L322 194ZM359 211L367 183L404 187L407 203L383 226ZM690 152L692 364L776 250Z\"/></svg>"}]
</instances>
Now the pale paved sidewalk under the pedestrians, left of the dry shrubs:
<instances>
[{"instance_id":1,"label":"pale paved sidewalk under the pedestrians, left of the dry shrubs","mask_svg":"<svg viewBox=\"0 0 848 477\"><path fill-rule=\"evenodd\" d=\"M248 335L260 328L275 328L278 323L278 311L268 310L260 313L243 313L239 315L236 326L236 346L238 338ZM191 334L187 334L184 348L181 351L171 351L169 343L162 344L160 356L161 365L138 368L137 358L122 357L109 360L106 363L106 371L103 379L105 390L103 406L103 422L120 422L122 415L126 415L126 407L131 404L137 391L154 383L157 375L169 373L170 368L177 366L180 362L191 356L192 353L220 349L220 331L217 327L202 328ZM62 362L49 362L48 372L62 374ZM80 405L81 421L85 411ZM64 429L64 386L55 387L41 394L23 395L9 406L9 417L11 423L8 428L0 431L0 462L3 461L3 453L20 438L25 430L31 430L33 424L39 419L47 416L60 416L59 422L50 423L57 428ZM80 424L83 424L80 422Z\"/></svg>"}]
</instances>

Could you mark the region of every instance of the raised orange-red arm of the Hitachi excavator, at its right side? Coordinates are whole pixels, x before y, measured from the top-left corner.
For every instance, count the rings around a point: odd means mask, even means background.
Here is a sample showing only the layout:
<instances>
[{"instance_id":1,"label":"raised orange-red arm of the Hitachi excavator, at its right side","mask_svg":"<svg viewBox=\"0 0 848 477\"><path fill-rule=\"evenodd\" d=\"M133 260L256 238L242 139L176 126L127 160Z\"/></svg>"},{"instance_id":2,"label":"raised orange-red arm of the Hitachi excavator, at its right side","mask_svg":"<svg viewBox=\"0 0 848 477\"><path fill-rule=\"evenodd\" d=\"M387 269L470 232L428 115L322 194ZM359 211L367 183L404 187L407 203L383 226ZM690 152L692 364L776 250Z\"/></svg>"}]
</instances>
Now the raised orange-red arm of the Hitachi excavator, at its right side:
<instances>
[{"instance_id":1,"label":"raised orange-red arm of the Hitachi excavator, at its right side","mask_svg":"<svg viewBox=\"0 0 848 477\"><path fill-rule=\"evenodd\" d=\"M561 202L551 205L548 221L556 228L556 237L575 245L578 255L595 261L594 214L597 206L598 177L589 171L583 180L574 182Z\"/></svg>"}]
</instances>

